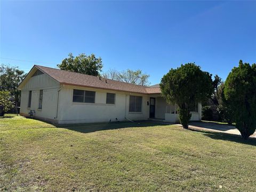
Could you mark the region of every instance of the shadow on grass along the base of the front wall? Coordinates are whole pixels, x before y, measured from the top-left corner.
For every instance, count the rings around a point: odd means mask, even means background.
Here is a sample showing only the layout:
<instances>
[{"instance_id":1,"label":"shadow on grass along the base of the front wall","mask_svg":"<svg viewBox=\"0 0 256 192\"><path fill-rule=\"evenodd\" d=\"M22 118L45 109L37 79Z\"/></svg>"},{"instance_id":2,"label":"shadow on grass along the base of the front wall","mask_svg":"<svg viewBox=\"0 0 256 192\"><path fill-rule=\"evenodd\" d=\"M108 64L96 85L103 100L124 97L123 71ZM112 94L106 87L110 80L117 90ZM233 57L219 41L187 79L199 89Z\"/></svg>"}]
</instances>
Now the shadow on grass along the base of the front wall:
<instances>
[{"instance_id":1,"label":"shadow on grass along the base of the front wall","mask_svg":"<svg viewBox=\"0 0 256 192\"><path fill-rule=\"evenodd\" d=\"M91 133L95 131L103 130L114 130L114 129L124 129L129 127L148 127L148 126L158 126L166 125L161 122L148 122L148 121L138 121L138 122L113 122L113 123L84 123L84 124L58 124L55 125L59 128L64 128L72 131L78 131L81 133Z\"/></svg>"}]
</instances>

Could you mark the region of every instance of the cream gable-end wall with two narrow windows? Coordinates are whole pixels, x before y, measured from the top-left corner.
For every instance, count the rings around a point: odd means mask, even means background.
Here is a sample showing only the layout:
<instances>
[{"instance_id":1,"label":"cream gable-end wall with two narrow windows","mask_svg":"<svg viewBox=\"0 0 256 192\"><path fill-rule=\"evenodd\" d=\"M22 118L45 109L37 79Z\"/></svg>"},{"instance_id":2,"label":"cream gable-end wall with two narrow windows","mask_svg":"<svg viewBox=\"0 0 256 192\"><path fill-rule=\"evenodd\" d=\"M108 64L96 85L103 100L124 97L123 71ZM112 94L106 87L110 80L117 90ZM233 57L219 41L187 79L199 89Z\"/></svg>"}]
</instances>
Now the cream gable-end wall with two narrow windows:
<instances>
[{"instance_id":1,"label":"cream gable-end wall with two narrow windows","mask_svg":"<svg viewBox=\"0 0 256 192\"><path fill-rule=\"evenodd\" d=\"M60 85L47 75L31 77L21 88L20 113L29 115L30 110L35 110L35 117L42 119L55 119L57 112L57 95ZM43 90L42 109L38 109L39 90ZM31 106L28 108L29 91L31 94Z\"/></svg>"}]
</instances>

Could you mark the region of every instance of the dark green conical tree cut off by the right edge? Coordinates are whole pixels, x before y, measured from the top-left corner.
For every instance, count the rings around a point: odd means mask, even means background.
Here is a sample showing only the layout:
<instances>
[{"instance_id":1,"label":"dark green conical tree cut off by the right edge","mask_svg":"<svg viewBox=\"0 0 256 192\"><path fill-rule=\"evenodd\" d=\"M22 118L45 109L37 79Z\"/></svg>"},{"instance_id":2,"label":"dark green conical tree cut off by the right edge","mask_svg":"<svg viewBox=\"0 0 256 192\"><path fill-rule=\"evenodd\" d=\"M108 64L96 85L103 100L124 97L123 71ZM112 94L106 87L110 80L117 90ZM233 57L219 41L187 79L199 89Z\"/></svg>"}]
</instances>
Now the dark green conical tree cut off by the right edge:
<instances>
[{"instance_id":1,"label":"dark green conical tree cut off by the right edge","mask_svg":"<svg viewBox=\"0 0 256 192\"><path fill-rule=\"evenodd\" d=\"M234 111L236 128L243 139L249 138L256 129L256 64L240 60L226 79L224 94Z\"/></svg>"}]
</instances>

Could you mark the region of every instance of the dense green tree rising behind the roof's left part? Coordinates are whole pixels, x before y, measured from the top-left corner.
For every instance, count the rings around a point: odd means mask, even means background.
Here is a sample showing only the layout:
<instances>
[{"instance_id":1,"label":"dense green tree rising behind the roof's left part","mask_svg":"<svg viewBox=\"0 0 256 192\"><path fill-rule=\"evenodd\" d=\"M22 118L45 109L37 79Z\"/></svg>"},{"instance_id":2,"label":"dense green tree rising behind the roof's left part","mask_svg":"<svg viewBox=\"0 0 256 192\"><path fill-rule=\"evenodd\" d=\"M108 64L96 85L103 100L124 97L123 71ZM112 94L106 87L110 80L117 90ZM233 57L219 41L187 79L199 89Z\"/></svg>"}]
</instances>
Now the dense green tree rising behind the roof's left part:
<instances>
[{"instance_id":1,"label":"dense green tree rising behind the roof's left part","mask_svg":"<svg viewBox=\"0 0 256 192\"><path fill-rule=\"evenodd\" d=\"M84 53L74 57L72 53L68 54L68 58L62 60L57 65L62 70L73 71L86 75L99 76L103 67L101 58L96 58L94 54L86 55Z\"/></svg>"}]
</instances>

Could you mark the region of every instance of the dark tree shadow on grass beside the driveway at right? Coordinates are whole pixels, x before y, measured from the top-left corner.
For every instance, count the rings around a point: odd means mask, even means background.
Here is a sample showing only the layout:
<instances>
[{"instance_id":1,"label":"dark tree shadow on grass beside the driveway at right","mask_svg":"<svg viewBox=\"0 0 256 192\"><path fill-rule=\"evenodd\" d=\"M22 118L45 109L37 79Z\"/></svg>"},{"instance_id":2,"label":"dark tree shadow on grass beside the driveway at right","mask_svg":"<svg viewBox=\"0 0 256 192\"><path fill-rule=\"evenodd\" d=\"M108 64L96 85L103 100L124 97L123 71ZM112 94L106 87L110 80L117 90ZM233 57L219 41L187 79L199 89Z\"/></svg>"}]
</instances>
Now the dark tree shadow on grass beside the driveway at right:
<instances>
[{"instance_id":1,"label":"dark tree shadow on grass beside the driveway at right","mask_svg":"<svg viewBox=\"0 0 256 192\"><path fill-rule=\"evenodd\" d=\"M223 141L232 141L232 142L242 143L242 144L245 144L245 145L256 146L256 138L249 138L247 140L244 140L241 135L236 135L236 134L210 132L210 131L194 130L194 129L189 129L189 130L190 131L195 131L195 132L201 132L206 137L209 137L211 139L223 140Z\"/></svg>"}]
</instances>

